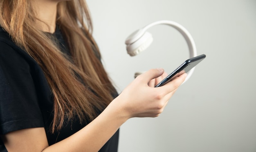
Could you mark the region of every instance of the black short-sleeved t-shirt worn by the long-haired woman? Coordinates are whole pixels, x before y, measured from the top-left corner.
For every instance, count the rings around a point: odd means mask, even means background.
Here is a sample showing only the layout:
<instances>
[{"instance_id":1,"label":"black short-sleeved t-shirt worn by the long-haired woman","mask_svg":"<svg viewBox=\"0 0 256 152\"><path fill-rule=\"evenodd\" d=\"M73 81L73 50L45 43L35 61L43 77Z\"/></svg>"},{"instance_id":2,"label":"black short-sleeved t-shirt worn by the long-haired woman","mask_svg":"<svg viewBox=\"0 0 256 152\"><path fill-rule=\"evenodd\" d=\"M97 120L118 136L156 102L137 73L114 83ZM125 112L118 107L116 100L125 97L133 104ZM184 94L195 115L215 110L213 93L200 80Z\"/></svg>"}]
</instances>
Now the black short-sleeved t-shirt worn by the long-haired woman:
<instances>
[{"instance_id":1,"label":"black short-sleeved t-shirt worn by the long-haired woman","mask_svg":"<svg viewBox=\"0 0 256 152\"><path fill-rule=\"evenodd\" d=\"M49 34L49 33L48 33ZM56 37L64 53L69 53L61 32ZM63 128L50 132L53 98L43 70L24 50L16 46L9 34L0 27L0 134L25 128L44 127L49 145L61 141L89 121L80 124L74 119L65 121ZM119 130L100 152L117 152ZM7 152L0 139L0 152Z\"/></svg>"}]
</instances>

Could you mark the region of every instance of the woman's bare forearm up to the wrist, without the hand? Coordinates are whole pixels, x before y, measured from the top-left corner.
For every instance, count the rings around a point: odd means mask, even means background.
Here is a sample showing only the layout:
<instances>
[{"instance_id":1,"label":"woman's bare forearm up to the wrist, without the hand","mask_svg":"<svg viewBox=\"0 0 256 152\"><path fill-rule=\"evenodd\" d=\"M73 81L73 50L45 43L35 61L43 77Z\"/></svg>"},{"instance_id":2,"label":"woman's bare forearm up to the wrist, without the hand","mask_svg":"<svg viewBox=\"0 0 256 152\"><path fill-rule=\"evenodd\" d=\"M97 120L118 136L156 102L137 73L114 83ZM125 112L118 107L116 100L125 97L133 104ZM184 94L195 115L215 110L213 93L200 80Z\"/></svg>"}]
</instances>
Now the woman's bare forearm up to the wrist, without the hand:
<instances>
[{"instance_id":1,"label":"woman's bare forearm up to the wrist, without the hand","mask_svg":"<svg viewBox=\"0 0 256 152\"><path fill-rule=\"evenodd\" d=\"M112 102L118 101L114 100ZM98 152L128 119L117 105L111 103L83 129L67 139L45 148L43 152Z\"/></svg>"}]
</instances>

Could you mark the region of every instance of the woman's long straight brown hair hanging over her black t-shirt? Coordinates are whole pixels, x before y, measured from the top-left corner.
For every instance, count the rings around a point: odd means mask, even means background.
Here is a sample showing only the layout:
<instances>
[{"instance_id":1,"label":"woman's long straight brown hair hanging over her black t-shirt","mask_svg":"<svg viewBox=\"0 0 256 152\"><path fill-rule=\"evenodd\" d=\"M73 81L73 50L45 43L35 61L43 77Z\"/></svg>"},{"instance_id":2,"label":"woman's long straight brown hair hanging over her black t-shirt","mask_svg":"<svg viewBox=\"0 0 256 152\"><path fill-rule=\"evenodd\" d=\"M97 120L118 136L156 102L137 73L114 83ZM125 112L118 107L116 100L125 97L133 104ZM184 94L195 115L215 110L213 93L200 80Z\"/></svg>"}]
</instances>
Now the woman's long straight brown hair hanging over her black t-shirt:
<instances>
[{"instance_id":1,"label":"woman's long straight brown hair hanging over her black t-shirt","mask_svg":"<svg viewBox=\"0 0 256 152\"><path fill-rule=\"evenodd\" d=\"M92 23L84 0L58 3L56 22L66 38L72 61L58 46L34 27L30 0L0 0L0 25L13 42L40 65L54 97L52 132L75 116L82 123L97 117L112 101L112 86L98 57ZM96 109L96 110L95 110Z\"/></svg>"}]
</instances>

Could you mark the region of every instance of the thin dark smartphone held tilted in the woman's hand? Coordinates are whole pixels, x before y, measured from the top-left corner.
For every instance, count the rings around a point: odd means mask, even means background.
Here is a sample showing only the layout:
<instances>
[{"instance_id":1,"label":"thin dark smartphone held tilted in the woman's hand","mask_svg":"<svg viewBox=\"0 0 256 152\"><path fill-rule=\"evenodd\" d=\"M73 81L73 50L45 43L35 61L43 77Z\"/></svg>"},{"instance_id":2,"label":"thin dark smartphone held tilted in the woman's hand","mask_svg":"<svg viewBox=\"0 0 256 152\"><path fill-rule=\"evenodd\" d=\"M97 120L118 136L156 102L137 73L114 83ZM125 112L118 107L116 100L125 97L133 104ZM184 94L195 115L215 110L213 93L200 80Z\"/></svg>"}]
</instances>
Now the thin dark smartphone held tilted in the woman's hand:
<instances>
[{"instance_id":1,"label":"thin dark smartphone held tilted in the woman's hand","mask_svg":"<svg viewBox=\"0 0 256 152\"><path fill-rule=\"evenodd\" d=\"M163 86L168 82L172 81L176 77L182 75L183 73L189 72L193 67L195 67L198 63L200 63L206 57L205 54L192 57L191 59L187 59L183 62L176 70L174 70L171 74L169 74L166 78L164 78L159 84L155 87Z\"/></svg>"}]
</instances>

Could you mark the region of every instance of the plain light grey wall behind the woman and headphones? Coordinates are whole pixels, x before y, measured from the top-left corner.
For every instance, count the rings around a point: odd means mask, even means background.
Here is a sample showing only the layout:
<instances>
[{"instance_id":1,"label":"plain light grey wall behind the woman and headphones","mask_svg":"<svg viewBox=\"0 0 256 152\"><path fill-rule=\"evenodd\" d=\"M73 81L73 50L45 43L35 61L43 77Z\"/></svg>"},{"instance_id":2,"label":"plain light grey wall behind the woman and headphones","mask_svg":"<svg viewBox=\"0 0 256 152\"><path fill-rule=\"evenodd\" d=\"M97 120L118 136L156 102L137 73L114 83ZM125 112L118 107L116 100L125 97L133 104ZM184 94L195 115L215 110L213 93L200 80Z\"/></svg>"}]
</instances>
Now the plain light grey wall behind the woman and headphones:
<instances>
[{"instance_id":1,"label":"plain light grey wall behind the woman and headphones","mask_svg":"<svg viewBox=\"0 0 256 152\"><path fill-rule=\"evenodd\" d=\"M189 57L182 35L157 25L154 42L135 57L130 33L157 20L182 24L198 55L206 54L188 82L157 118L121 126L119 152L256 151L256 0L87 0L103 64L119 92L137 71L167 73Z\"/></svg>"}]
</instances>

